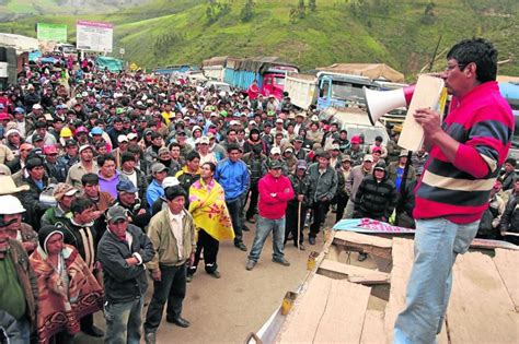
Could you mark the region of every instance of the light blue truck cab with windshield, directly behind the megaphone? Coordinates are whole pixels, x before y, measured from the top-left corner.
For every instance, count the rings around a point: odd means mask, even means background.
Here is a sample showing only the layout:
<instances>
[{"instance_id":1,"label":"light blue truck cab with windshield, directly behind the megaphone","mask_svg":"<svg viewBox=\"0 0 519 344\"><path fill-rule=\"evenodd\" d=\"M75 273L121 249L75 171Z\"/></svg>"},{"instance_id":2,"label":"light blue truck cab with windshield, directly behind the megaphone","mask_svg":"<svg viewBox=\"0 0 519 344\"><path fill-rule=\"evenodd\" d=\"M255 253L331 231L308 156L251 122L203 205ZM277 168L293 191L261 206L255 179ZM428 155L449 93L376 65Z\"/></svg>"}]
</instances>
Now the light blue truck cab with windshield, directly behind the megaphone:
<instances>
[{"instance_id":1,"label":"light blue truck cab with windshield, directly behind the megaphone","mask_svg":"<svg viewBox=\"0 0 519 344\"><path fill-rule=\"evenodd\" d=\"M362 87L379 88L379 85L368 78L332 72L319 72L318 86L318 110L348 105L366 106Z\"/></svg>"}]
</instances>

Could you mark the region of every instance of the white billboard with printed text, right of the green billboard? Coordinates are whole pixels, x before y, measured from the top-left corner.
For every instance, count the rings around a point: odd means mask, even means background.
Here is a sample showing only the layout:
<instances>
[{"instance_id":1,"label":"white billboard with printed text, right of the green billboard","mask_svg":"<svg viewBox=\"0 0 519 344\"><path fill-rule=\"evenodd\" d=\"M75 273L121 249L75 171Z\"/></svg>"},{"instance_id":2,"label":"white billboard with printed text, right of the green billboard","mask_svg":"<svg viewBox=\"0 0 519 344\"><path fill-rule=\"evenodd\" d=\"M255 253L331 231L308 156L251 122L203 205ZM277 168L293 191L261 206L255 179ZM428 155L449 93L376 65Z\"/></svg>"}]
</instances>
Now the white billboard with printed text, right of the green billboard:
<instances>
[{"instance_id":1,"label":"white billboard with printed text, right of the green billboard","mask_svg":"<svg viewBox=\"0 0 519 344\"><path fill-rule=\"evenodd\" d=\"M76 46L78 50L112 52L114 25L104 22L78 21Z\"/></svg>"}]
</instances>

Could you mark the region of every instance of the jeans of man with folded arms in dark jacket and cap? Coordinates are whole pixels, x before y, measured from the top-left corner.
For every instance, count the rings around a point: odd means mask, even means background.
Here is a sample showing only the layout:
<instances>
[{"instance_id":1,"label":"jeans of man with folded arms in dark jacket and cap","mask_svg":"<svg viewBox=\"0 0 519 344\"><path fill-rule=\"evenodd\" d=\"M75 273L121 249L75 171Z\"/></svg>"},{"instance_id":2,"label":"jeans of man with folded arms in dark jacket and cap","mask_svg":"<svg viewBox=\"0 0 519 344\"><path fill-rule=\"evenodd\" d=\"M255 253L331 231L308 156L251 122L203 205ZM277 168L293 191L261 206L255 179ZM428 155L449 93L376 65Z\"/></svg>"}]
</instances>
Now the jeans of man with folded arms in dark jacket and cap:
<instances>
[{"instance_id":1,"label":"jeans of man with folded arms in dark jacket and cap","mask_svg":"<svg viewBox=\"0 0 519 344\"><path fill-rule=\"evenodd\" d=\"M143 301L143 297L120 304L106 301L104 305L104 318L106 319L104 343L140 343Z\"/></svg>"}]
</instances>

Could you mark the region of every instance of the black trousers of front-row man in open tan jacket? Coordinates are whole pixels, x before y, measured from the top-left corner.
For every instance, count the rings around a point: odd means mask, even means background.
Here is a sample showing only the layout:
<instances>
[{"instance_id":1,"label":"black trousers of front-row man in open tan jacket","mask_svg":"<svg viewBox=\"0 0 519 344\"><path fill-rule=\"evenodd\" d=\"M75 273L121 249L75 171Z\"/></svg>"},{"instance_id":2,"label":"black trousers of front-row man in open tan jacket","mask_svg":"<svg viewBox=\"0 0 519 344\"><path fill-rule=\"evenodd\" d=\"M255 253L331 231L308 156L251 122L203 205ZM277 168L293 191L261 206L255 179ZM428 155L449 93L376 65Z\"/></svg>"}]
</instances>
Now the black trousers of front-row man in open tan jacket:
<instances>
[{"instance_id":1,"label":"black trousers of front-row man in open tan jacket","mask_svg":"<svg viewBox=\"0 0 519 344\"><path fill-rule=\"evenodd\" d=\"M146 315L145 332L155 332L160 325L164 305L168 303L165 315L177 318L182 315L182 301L186 295L186 264L168 266L160 264L162 278L153 281L153 296Z\"/></svg>"}]
</instances>

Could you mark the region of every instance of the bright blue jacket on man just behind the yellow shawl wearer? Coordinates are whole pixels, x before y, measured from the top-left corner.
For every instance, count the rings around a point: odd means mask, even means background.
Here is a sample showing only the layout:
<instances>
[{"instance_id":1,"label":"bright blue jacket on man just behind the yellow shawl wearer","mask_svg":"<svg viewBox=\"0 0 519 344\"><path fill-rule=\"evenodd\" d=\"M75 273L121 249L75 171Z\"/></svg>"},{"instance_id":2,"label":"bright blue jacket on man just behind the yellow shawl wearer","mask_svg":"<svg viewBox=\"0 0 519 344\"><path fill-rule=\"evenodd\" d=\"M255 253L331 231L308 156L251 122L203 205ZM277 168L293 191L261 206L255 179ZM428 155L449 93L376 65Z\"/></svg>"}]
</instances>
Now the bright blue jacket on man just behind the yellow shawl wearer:
<instances>
[{"instance_id":1,"label":"bright blue jacket on man just behind the yellow shawl wearer","mask_svg":"<svg viewBox=\"0 0 519 344\"><path fill-rule=\"evenodd\" d=\"M249 169L241 159L235 163L230 158L221 161L215 171L215 179L223 187L226 201L233 201L249 190Z\"/></svg>"}]
</instances>

